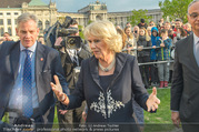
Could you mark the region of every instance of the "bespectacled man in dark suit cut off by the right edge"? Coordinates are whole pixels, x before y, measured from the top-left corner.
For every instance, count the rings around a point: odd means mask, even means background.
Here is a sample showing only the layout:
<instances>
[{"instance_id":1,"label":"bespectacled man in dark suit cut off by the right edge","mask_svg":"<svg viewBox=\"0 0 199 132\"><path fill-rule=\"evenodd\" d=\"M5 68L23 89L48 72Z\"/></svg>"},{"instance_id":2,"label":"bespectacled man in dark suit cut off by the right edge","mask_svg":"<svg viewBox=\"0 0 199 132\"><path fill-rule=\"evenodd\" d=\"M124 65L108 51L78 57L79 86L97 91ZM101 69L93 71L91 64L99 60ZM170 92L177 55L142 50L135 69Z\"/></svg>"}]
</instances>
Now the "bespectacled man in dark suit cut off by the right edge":
<instances>
[{"instance_id":1,"label":"bespectacled man in dark suit cut off by the right edge","mask_svg":"<svg viewBox=\"0 0 199 132\"><path fill-rule=\"evenodd\" d=\"M173 79L171 87L171 119L175 125L182 123L185 132L199 130L199 1L188 7L190 34L176 44Z\"/></svg>"}]
</instances>

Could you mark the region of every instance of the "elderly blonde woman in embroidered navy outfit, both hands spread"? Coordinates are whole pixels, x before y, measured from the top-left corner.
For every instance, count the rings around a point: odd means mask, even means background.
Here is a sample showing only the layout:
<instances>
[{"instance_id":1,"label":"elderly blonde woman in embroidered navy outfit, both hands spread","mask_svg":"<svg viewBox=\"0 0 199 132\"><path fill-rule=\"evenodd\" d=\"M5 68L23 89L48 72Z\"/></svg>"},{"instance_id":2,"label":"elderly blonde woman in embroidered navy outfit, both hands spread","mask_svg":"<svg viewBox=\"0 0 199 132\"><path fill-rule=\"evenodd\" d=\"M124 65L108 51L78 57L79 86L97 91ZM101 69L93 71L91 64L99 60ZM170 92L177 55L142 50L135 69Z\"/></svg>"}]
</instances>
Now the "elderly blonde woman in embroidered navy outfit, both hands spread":
<instances>
[{"instance_id":1,"label":"elderly blonde woman in embroidered navy outfit, both hands spread","mask_svg":"<svg viewBox=\"0 0 199 132\"><path fill-rule=\"evenodd\" d=\"M157 91L148 95L133 55L121 53L122 40L109 21L96 21L84 29L84 38L93 57L82 61L76 92L66 95L59 79L51 83L58 100L74 109L83 100L88 104L87 122L135 123L132 98L148 111L156 111L160 100ZM128 125L128 131L138 131L137 125ZM127 130L126 130L127 131Z\"/></svg>"}]
</instances>

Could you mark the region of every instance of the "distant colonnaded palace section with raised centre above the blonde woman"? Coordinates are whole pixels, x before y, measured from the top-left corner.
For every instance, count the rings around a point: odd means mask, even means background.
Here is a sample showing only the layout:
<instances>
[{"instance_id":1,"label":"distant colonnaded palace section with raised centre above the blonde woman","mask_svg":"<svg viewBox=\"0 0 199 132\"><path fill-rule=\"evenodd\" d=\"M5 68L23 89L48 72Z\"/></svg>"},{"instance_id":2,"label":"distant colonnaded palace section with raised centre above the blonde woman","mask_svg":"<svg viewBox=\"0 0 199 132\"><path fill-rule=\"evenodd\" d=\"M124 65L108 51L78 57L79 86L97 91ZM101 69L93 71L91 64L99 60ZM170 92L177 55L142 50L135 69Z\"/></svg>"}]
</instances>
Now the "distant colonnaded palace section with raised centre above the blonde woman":
<instances>
[{"instance_id":1,"label":"distant colonnaded palace section with raised centre above the blonde woman","mask_svg":"<svg viewBox=\"0 0 199 132\"><path fill-rule=\"evenodd\" d=\"M148 10L147 16L152 18L152 21L158 23L162 18L162 12L160 9ZM107 4L100 3L98 0L93 3L88 4L87 7L78 10L76 13L69 12L58 12L59 18L64 18L69 16L78 21L80 26L86 27L89 21L96 20L109 20L112 21L116 26L125 28L128 22L128 18L132 16L132 11L121 11L121 12L108 12Z\"/></svg>"}]
</instances>

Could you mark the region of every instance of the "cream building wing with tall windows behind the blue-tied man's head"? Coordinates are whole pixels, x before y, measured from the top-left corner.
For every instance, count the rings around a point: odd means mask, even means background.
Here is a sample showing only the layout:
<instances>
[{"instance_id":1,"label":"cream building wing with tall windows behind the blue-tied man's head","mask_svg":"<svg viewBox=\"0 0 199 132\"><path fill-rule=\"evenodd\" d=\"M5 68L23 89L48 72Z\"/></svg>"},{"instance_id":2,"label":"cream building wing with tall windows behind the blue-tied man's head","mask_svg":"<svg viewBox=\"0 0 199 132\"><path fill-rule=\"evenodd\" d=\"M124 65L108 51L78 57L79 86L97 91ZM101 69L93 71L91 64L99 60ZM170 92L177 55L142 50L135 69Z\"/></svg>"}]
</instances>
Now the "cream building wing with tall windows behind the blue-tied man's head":
<instances>
[{"instance_id":1,"label":"cream building wing with tall windows behind the blue-tied man's head","mask_svg":"<svg viewBox=\"0 0 199 132\"><path fill-rule=\"evenodd\" d=\"M24 12L34 13L38 17L38 27L41 33L57 21L57 7L54 2L49 4L42 0L0 0L0 35L8 32L14 40L17 18Z\"/></svg>"}]
</instances>

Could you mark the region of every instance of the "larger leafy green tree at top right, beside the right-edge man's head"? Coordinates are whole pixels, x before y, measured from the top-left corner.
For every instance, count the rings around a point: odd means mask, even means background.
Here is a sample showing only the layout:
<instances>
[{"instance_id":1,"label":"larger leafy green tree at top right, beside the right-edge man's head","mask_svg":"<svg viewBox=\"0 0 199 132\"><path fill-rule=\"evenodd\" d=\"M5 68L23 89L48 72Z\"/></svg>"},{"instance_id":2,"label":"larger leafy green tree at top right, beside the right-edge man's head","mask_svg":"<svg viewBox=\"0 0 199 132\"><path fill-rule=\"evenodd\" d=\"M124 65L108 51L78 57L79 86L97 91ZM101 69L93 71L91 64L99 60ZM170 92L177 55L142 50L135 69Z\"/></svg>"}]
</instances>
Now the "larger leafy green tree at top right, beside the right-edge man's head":
<instances>
[{"instance_id":1,"label":"larger leafy green tree at top right, beside the right-edge man's head","mask_svg":"<svg viewBox=\"0 0 199 132\"><path fill-rule=\"evenodd\" d=\"M163 18L169 17L170 20L179 18L186 23L187 9L192 0L165 0L159 2L160 10L163 12Z\"/></svg>"}]
</instances>

